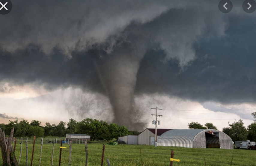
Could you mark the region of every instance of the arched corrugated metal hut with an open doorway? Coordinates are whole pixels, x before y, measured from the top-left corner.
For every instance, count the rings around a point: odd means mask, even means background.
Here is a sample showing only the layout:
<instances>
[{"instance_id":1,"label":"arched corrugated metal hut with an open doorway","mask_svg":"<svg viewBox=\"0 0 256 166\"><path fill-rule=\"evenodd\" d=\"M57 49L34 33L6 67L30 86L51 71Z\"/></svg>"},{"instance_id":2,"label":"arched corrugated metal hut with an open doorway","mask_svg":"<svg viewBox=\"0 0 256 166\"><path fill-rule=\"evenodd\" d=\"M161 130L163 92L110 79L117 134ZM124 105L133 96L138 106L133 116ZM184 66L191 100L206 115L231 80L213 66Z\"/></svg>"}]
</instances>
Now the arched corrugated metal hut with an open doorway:
<instances>
[{"instance_id":1,"label":"arched corrugated metal hut with an open doorway","mask_svg":"<svg viewBox=\"0 0 256 166\"><path fill-rule=\"evenodd\" d=\"M169 130L158 140L159 146L233 149L232 139L219 130Z\"/></svg>"}]
</instances>

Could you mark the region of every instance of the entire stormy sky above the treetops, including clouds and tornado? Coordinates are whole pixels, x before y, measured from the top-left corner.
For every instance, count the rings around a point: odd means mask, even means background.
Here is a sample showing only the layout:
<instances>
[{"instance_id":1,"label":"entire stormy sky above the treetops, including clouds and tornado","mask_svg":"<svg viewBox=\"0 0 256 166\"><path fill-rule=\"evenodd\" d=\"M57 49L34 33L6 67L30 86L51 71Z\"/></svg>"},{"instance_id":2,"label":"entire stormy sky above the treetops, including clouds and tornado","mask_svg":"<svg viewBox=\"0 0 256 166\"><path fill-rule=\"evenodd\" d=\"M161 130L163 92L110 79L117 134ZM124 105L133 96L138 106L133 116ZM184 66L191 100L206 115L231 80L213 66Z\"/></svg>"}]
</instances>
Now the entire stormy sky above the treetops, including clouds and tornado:
<instances>
[{"instance_id":1,"label":"entire stormy sky above the treetops, including clouds and tornado","mask_svg":"<svg viewBox=\"0 0 256 166\"><path fill-rule=\"evenodd\" d=\"M93 117L141 130L157 105L163 128L252 123L256 25L242 1L227 14L210 0L12 3L0 17L1 121Z\"/></svg>"}]
</instances>

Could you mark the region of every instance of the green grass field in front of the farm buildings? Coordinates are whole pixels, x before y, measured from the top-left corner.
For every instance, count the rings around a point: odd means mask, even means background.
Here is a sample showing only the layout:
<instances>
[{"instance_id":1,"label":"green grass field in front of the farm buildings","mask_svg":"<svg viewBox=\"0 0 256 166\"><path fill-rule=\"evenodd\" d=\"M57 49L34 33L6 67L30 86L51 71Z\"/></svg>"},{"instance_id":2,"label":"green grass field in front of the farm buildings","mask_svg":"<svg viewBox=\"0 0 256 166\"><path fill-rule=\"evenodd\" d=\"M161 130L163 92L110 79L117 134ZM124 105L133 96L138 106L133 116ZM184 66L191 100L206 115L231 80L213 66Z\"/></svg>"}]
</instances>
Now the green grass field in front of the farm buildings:
<instances>
[{"instance_id":1,"label":"green grass field in front of the farm buildings","mask_svg":"<svg viewBox=\"0 0 256 166\"><path fill-rule=\"evenodd\" d=\"M62 149L61 165L66 166L69 162L69 145L63 144L67 149ZM31 163L32 144L28 144L28 165ZM44 144L42 150L41 166L51 165L52 144ZM88 166L99 166L101 163L103 144L88 144ZM140 153L141 150L141 153ZM104 166L107 165L106 159L109 159L113 166L135 166L150 165L162 166L170 165L171 150L174 150L174 158L180 159L180 162L174 162L179 166L205 166L205 165L247 165L256 166L256 150L222 150L222 149L194 149L179 147L153 147L144 145L106 145ZM20 144L16 145L16 158L19 158ZM59 161L60 144L55 144L54 162L57 166ZM40 144L35 145L33 165L39 165ZM205 161L204 161L205 159ZM216 161L216 162L214 162ZM206 162L206 164L205 164ZM224 163L218 163L224 162ZM2 160L0 160L2 165ZM21 166L26 165L26 148L22 144ZM73 166L85 165L85 145L72 144L72 162Z\"/></svg>"}]
</instances>

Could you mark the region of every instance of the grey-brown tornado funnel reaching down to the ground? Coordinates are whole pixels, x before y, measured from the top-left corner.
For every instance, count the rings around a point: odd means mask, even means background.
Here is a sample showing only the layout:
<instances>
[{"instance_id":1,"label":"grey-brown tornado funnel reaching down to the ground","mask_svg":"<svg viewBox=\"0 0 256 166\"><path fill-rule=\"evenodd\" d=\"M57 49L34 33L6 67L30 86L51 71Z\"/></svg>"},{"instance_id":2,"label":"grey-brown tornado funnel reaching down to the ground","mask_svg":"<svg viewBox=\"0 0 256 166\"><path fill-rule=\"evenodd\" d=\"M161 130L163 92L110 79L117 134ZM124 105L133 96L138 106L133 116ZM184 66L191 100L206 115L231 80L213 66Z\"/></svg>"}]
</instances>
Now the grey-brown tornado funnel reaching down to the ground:
<instances>
[{"instance_id":1,"label":"grey-brown tornado funnel reaching down to the ground","mask_svg":"<svg viewBox=\"0 0 256 166\"><path fill-rule=\"evenodd\" d=\"M141 114L136 108L134 93L147 42L136 39L117 44L98 66L102 85L114 111L114 123L124 125L129 130L141 130L146 125L140 120Z\"/></svg>"}]
</instances>

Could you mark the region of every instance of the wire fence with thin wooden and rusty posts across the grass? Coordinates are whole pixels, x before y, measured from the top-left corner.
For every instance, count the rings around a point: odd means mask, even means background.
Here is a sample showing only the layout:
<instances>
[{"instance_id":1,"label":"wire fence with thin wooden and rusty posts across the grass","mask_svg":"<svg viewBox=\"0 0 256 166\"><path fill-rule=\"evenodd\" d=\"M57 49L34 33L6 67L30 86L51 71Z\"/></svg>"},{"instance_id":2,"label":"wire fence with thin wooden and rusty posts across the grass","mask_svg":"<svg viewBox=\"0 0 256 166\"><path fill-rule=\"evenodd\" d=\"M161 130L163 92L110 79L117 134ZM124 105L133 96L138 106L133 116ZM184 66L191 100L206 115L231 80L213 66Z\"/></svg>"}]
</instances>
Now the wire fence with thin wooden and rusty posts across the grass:
<instances>
[{"instance_id":1,"label":"wire fence with thin wooden and rusty posts across the grass","mask_svg":"<svg viewBox=\"0 0 256 166\"><path fill-rule=\"evenodd\" d=\"M22 140L22 139L21 139ZM171 150L160 151L141 151L139 148L133 149L120 149L112 148L115 146L87 147L87 142L84 145L72 144L72 141L61 141L58 139L52 139L52 143L49 140L44 141L40 139L40 142L36 144L36 140L23 139L23 141L16 141L13 143L16 155L16 159L20 161L20 166L88 166L88 165L110 165L106 162L109 160L111 165L234 165L234 166L255 166L255 164L240 164L233 160L234 156L230 158L230 161L223 162L213 160L209 158L202 158L193 156L194 152L186 152L183 154L176 154L171 158ZM51 140L50 140L51 141ZM80 141L80 144L81 141ZM21 154L20 154L21 152ZM204 153L205 154L205 153ZM210 155L210 153L209 153ZM33 157L32 157L33 156ZM121 157L120 157L121 156ZM150 158L150 159L148 159ZM170 159L179 159L180 163L171 162ZM32 164L31 164L32 163ZM183 163L183 164L182 164Z\"/></svg>"}]
</instances>

